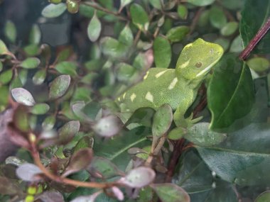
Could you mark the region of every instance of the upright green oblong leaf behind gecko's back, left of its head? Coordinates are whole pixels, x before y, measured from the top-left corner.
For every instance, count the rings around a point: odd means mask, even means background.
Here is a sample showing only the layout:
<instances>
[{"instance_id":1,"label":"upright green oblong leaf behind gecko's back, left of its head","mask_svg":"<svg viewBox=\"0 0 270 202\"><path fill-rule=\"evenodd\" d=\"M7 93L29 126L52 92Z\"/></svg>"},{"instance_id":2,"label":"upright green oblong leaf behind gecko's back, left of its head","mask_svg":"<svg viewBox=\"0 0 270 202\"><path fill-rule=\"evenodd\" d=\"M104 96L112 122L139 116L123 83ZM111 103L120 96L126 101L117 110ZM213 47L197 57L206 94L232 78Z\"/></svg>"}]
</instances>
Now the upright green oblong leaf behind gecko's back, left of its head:
<instances>
[{"instance_id":1,"label":"upright green oblong leaf behind gecko's back, left of its head","mask_svg":"<svg viewBox=\"0 0 270 202\"><path fill-rule=\"evenodd\" d=\"M171 44L166 38L158 36L153 40L153 56L156 67L168 68L171 63Z\"/></svg>"}]
</instances>

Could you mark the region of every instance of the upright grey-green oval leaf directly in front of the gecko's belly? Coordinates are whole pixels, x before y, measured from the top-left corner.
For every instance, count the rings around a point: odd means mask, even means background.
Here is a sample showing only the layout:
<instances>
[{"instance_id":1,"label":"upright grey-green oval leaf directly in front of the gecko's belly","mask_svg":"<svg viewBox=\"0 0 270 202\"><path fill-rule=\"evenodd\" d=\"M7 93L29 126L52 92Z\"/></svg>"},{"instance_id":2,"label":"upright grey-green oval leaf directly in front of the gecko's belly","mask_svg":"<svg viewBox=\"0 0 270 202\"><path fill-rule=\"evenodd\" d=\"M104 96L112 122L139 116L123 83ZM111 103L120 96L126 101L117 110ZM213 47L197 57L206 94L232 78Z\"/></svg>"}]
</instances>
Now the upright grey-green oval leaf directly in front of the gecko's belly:
<instances>
[{"instance_id":1,"label":"upright grey-green oval leaf directly in front of the gecko's belly","mask_svg":"<svg viewBox=\"0 0 270 202\"><path fill-rule=\"evenodd\" d=\"M152 133L153 136L161 137L170 128L173 121L173 110L170 105L164 104L153 116Z\"/></svg>"}]
</instances>

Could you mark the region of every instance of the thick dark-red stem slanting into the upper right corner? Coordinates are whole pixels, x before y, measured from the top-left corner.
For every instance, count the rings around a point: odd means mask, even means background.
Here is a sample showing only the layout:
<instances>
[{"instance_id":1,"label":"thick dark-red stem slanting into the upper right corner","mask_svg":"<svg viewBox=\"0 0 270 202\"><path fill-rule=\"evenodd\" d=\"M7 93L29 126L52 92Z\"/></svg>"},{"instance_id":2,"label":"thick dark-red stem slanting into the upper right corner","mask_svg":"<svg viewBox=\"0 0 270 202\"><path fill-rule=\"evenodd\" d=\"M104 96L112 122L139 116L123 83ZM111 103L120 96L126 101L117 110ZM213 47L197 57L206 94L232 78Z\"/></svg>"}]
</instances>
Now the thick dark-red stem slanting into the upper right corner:
<instances>
[{"instance_id":1,"label":"thick dark-red stem slanting into the upper right corner","mask_svg":"<svg viewBox=\"0 0 270 202\"><path fill-rule=\"evenodd\" d=\"M257 43L259 43L261 38L263 38L264 35L266 35L266 33L269 31L269 29L270 29L270 18L267 19L266 23L264 23L264 26L262 26L259 29L259 31L254 36L254 38L252 38L252 40L249 42L247 47L245 47L244 50L241 52L241 54L239 55L239 58L241 60L245 60L247 58L247 56L249 56L250 52L252 52L254 47L257 45Z\"/></svg>"}]
</instances>

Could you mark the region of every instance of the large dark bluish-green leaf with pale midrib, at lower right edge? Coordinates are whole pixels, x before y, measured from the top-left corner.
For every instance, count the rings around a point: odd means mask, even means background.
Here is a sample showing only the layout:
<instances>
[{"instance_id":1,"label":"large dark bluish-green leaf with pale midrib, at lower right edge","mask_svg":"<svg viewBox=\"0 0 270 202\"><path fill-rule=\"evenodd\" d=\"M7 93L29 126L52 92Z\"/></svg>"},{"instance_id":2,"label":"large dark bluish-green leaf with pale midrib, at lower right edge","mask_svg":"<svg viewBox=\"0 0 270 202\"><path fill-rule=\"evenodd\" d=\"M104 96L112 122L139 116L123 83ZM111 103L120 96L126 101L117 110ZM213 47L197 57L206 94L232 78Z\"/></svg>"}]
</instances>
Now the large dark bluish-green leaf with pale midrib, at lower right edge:
<instances>
[{"instance_id":1,"label":"large dark bluish-green leaf with pale midrib, at lower right edge","mask_svg":"<svg viewBox=\"0 0 270 202\"><path fill-rule=\"evenodd\" d=\"M208 167L225 181L240 186L266 185L270 179L269 131L269 124L252 124L230 133L222 145L196 148Z\"/></svg>"}]
</instances>

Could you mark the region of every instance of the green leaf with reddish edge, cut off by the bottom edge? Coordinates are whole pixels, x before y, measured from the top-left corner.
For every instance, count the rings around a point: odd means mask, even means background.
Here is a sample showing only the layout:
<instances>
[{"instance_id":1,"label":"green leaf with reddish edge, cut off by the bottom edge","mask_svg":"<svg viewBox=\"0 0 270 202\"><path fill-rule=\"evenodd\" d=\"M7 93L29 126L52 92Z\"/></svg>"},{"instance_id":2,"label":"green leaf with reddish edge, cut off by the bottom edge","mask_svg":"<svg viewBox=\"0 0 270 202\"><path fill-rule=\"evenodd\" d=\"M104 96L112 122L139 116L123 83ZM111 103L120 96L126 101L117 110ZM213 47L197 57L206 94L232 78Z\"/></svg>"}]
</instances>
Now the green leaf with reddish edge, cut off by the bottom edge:
<instances>
[{"instance_id":1,"label":"green leaf with reddish edge, cut off by the bottom edge","mask_svg":"<svg viewBox=\"0 0 270 202\"><path fill-rule=\"evenodd\" d=\"M190 202L190 196L188 196L188 193L175 184L152 184L151 188L163 202Z\"/></svg>"}]
</instances>

